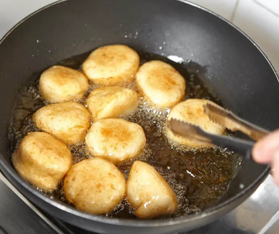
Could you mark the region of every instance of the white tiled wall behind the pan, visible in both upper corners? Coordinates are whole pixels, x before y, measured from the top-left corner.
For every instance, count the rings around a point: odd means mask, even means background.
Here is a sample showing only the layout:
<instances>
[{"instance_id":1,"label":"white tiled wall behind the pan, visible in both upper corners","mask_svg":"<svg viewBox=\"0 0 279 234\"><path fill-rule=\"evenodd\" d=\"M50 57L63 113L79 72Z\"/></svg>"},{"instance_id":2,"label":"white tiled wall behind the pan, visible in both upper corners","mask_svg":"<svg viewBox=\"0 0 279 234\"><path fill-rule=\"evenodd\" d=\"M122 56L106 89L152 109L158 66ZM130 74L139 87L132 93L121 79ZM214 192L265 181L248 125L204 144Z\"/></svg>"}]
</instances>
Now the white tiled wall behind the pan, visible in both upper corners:
<instances>
[{"instance_id":1,"label":"white tiled wall behind the pan, visible in both upper corners","mask_svg":"<svg viewBox=\"0 0 279 234\"><path fill-rule=\"evenodd\" d=\"M55 0L0 0L0 37ZM189 0L230 20L250 36L279 71L279 0Z\"/></svg>"}]
</instances>

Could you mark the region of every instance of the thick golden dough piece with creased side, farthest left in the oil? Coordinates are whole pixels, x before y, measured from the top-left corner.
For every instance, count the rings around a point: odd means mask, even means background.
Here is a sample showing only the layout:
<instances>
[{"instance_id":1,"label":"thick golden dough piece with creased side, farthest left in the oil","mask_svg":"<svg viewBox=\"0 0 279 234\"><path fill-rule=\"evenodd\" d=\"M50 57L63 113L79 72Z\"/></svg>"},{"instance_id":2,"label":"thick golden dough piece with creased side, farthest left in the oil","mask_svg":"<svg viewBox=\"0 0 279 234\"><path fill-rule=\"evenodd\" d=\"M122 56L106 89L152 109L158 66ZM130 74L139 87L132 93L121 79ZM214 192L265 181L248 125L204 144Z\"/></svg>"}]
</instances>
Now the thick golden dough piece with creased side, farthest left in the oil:
<instances>
[{"instance_id":1,"label":"thick golden dough piece with creased side, farthest left in the oil","mask_svg":"<svg viewBox=\"0 0 279 234\"><path fill-rule=\"evenodd\" d=\"M54 190L72 167L71 151L46 132L30 132L12 154L15 170L30 184Z\"/></svg>"}]
</instances>

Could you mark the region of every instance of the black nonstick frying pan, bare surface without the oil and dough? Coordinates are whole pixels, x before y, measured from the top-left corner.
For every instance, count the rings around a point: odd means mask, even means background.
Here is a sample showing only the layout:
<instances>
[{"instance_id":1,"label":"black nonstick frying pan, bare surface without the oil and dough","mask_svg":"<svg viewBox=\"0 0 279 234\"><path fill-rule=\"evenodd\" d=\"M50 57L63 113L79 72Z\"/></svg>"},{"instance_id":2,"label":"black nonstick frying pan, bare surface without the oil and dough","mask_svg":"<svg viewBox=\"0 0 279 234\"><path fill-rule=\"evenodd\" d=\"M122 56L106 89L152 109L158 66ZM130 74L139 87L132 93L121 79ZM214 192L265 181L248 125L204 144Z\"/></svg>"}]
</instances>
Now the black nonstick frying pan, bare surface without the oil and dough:
<instances>
[{"instance_id":1,"label":"black nonstick frying pan, bare surface without the oil and dough","mask_svg":"<svg viewBox=\"0 0 279 234\"><path fill-rule=\"evenodd\" d=\"M175 0L58 1L29 15L0 42L0 169L4 176L48 214L96 233L185 232L240 205L267 176L267 165L244 161L226 195L210 209L177 219L149 221L77 211L45 197L16 173L7 131L20 89L34 73L108 44L126 44L137 51L198 62L207 70L204 82L215 88L226 108L269 130L278 127L275 70L251 39L218 15Z\"/></svg>"}]
</instances>

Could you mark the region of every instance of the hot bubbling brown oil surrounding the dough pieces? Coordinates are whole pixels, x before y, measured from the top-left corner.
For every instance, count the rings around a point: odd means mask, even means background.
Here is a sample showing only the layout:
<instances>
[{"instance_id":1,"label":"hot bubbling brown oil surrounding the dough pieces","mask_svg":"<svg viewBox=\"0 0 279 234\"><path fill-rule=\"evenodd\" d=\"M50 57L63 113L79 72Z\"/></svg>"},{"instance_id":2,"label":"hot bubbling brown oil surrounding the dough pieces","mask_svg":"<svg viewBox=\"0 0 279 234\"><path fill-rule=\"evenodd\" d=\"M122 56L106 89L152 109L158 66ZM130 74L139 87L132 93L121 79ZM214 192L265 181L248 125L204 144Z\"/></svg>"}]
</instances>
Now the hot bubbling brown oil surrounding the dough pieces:
<instances>
[{"instance_id":1,"label":"hot bubbling brown oil surrounding the dough pieces","mask_svg":"<svg viewBox=\"0 0 279 234\"><path fill-rule=\"evenodd\" d=\"M190 61L177 63L163 55L144 52L139 54L141 64L151 60L161 60L172 64L186 78L185 99L209 99L222 105L218 97L211 94L210 88L205 86L201 80L202 76L205 75L205 68ZM88 53L63 60L58 64L80 70L80 61L85 60L86 56ZM39 131L32 121L34 112L45 105L38 88L39 76L40 73L31 78L29 85L23 87L12 112L9 128L12 151L16 150L28 132ZM93 85L90 90L93 88L96 86ZM136 89L134 85L131 88ZM89 92L85 96L88 94ZM137 112L125 117L126 120L139 124L144 129L147 138L145 149L135 160L147 162L155 167L172 187L179 203L178 211L172 217L195 214L217 204L221 197L226 194L231 179L240 169L241 156L217 147L202 150L185 149L183 146L168 142L164 132L169 109L158 110L149 107L148 102L143 97L140 97L139 100ZM86 105L86 99L80 102ZM70 149L74 156L74 163L92 157L85 150L84 142L70 146ZM135 160L117 165L126 179ZM60 200L67 205L70 204L64 195L63 182L54 192L46 192L39 188L38 190L51 199ZM131 208L126 198L106 216L135 218L134 209Z\"/></svg>"}]
</instances>

